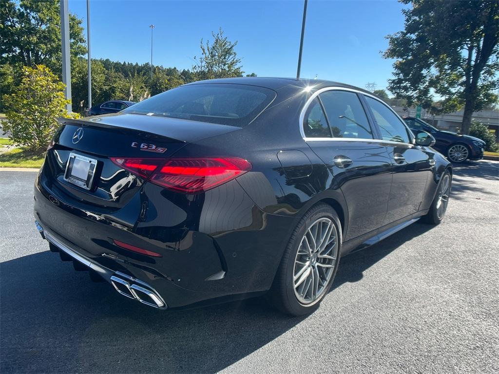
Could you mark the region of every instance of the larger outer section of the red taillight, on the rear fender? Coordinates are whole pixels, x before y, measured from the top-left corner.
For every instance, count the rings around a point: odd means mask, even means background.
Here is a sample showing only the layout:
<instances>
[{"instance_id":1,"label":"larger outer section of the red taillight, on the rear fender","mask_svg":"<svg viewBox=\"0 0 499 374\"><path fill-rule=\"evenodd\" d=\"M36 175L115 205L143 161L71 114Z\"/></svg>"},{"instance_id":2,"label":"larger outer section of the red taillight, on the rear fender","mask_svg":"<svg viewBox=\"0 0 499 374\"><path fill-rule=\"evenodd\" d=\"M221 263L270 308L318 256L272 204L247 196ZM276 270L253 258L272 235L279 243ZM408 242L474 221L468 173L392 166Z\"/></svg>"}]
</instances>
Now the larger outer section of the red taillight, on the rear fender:
<instances>
[{"instance_id":1,"label":"larger outer section of the red taillight, on the rear fender","mask_svg":"<svg viewBox=\"0 0 499 374\"><path fill-rule=\"evenodd\" d=\"M170 159L151 177L151 182L186 193L206 191L239 177L251 164L236 157Z\"/></svg>"}]
</instances>

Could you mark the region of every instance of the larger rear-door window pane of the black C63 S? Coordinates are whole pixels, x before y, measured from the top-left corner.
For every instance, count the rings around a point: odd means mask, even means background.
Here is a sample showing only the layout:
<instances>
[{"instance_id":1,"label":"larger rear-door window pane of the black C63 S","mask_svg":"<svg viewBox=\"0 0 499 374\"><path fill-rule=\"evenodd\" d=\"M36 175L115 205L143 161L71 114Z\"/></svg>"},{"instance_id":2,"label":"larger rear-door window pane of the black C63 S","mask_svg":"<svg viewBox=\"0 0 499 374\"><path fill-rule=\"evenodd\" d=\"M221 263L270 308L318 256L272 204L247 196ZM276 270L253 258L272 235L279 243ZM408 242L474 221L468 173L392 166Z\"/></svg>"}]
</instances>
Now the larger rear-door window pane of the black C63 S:
<instances>
[{"instance_id":1,"label":"larger rear-door window pane of the black C63 S","mask_svg":"<svg viewBox=\"0 0 499 374\"><path fill-rule=\"evenodd\" d=\"M331 90L319 95L335 138L373 139L366 113L354 92Z\"/></svg>"}]
</instances>

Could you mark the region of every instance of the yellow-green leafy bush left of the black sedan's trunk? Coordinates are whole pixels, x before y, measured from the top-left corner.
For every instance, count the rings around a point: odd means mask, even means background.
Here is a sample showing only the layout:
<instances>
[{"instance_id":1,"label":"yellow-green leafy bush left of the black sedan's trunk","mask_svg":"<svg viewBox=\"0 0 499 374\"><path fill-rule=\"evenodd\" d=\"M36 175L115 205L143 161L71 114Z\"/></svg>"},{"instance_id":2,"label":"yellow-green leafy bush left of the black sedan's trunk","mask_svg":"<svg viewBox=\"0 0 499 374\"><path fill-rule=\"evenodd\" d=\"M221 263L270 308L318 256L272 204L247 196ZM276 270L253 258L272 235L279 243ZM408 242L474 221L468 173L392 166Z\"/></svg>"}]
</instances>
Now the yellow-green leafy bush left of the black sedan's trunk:
<instances>
[{"instance_id":1,"label":"yellow-green leafy bush left of the black sedan's trunk","mask_svg":"<svg viewBox=\"0 0 499 374\"><path fill-rule=\"evenodd\" d=\"M69 117L64 84L43 65L24 67L24 76L14 93L4 95L8 104L4 132L15 145L34 153L45 150L58 127L58 117Z\"/></svg>"}]
</instances>

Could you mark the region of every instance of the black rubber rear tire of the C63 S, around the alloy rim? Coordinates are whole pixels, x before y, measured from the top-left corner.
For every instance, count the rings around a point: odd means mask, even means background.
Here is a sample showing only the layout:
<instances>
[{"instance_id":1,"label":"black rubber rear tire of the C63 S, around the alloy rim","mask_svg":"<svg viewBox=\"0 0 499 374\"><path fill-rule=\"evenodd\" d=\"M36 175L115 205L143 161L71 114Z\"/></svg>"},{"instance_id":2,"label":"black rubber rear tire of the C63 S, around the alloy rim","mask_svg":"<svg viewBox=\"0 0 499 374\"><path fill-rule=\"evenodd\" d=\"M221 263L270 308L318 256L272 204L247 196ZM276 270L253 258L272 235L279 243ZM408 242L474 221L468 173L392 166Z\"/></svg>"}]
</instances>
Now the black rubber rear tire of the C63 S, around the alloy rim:
<instances>
[{"instance_id":1,"label":"black rubber rear tire of the C63 S, around the alloy rim","mask_svg":"<svg viewBox=\"0 0 499 374\"><path fill-rule=\"evenodd\" d=\"M335 257L335 261L334 264L330 264L332 268L332 271L330 271L329 275L330 278L329 280L327 280L327 283L325 285L321 285L322 289L320 295L313 302L303 303L298 300L298 296L295 294L293 281L295 260L297 259L300 244L308 228L314 222L317 222L317 220L320 220L321 218L326 218L332 221L334 229L336 230L335 244L333 247L331 247L331 252L329 252L329 254L331 254L331 257ZM291 238L289 239L286 249L284 250L281 263L279 265L279 268L277 269L272 287L266 296L267 300L281 312L292 316L301 316L315 311L319 307L319 304L324 299L325 295L327 295L334 281L336 271L338 270L341 243L341 224L334 209L325 203L319 203L310 208L310 210L308 210L300 219L300 221L296 225L296 228L291 234ZM333 252L334 256L332 255ZM313 292L314 291L312 290L312 293Z\"/></svg>"}]
</instances>

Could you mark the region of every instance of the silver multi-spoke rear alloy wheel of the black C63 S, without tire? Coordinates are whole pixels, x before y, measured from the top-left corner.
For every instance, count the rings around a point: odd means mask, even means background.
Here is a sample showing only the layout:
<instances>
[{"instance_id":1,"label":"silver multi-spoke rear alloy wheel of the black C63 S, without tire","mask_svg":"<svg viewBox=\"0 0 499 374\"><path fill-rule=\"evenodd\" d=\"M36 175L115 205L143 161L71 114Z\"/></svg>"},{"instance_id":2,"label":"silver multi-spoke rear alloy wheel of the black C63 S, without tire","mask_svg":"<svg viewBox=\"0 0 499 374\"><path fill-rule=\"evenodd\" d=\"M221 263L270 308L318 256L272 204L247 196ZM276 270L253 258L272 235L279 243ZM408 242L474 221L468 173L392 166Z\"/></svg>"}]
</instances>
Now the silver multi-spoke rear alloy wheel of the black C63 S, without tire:
<instances>
[{"instance_id":1,"label":"silver multi-spoke rear alloy wheel of the black C63 S, without tire","mask_svg":"<svg viewBox=\"0 0 499 374\"><path fill-rule=\"evenodd\" d=\"M329 218L313 222L303 235L293 268L294 294L302 304L318 300L327 289L337 262L336 226Z\"/></svg>"}]
</instances>

